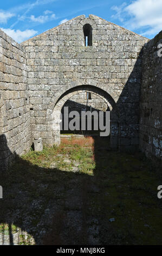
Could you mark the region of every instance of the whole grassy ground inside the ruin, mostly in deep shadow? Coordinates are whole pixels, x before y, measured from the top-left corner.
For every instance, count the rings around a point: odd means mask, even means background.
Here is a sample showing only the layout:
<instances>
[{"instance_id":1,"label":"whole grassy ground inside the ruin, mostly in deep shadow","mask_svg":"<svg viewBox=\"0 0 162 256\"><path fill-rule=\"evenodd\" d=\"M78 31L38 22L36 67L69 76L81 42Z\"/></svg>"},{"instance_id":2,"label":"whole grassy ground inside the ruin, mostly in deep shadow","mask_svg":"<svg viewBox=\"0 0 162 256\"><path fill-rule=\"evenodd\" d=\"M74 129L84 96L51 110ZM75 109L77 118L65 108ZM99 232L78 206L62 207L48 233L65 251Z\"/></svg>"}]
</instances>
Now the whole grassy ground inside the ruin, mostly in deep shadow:
<instances>
[{"instance_id":1,"label":"whole grassy ground inside the ruin, mostly in deep shadow","mask_svg":"<svg viewBox=\"0 0 162 256\"><path fill-rule=\"evenodd\" d=\"M11 225L27 231L24 245L162 245L160 180L144 155L111 151L105 138L62 138L3 175L0 237Z\"/></svg>"}]
</instances>

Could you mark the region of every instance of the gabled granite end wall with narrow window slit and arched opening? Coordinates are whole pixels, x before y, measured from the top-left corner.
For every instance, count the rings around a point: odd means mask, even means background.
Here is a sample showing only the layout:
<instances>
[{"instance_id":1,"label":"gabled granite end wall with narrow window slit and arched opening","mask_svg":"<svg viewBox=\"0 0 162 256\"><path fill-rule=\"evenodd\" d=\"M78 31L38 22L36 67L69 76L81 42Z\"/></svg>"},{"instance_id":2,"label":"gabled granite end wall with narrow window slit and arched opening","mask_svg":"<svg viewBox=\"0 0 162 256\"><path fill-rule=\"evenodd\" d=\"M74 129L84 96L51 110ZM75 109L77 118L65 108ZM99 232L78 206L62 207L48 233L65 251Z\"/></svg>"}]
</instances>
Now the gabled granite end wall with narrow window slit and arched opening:
<instances>
[{"instance_id":1,"label":"gabled granite end wall with narrow window slit and arched opening","mask_svg":"<svg viewBox=\"0 0 162 256\"><path fill-rule=\"evenodd\" d=\"M92 46L85 46L87 23ZM32 136L55 143L56 103L72 88L93 86L107 93L112 108L118 109L120 148L138 148L141 48L147 41L100 17L81 15L23 42Z\"/></svg>"}]
</instances>

